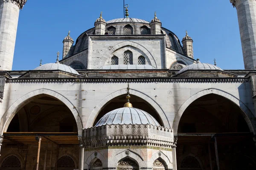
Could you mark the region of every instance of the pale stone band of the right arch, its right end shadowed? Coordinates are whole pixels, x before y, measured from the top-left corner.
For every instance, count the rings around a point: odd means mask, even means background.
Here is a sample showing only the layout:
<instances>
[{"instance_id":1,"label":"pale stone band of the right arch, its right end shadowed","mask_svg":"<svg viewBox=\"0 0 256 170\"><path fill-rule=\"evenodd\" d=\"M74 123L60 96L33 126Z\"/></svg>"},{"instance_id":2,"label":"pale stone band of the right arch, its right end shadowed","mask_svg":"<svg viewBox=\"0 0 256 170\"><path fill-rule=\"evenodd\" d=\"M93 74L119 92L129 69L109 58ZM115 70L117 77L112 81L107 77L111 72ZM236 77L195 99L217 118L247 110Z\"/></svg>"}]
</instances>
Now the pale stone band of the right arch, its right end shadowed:
<instances>
[{"instance_id":1,"label":"pale stone band of the right arch, its right end shadowed","mask_svg":"<svg viewBox=\"0 0 256 170\"><path fill-rule=\"evenodd\" d=\"M254 133L254 134L256 133L255 132L255 128L253 126L253 123L255 125L255 120L253 120L253 117L254 117L253 113L250 111L249 108L247 108L246 105L244 105L243 102L241 102L235 96L233 96L231 94L228 94L227 92L224 92L224 91L221 91L221 90L218 90L218 89L215 89L215 88L209 88L209 89L206 89L206 90L202 90L202 91L198 92L197 94L194 94L189 99L187 99L186 102L183 103L183 105L181 105L178 113L175 115L175 119L174 119L174 122L173 122L173 125L172 125L173 130L174 130L174 134L177 134L180 118L183 115L183 113L186 110L186 108L192 102L194 102L196 99L198 99L198 98L200 98L202 96L205 96L207 94L217 94L217 95L223 96L224 98L229 99L230 101L235 103L239 108L241 108L242 113L244 113L244 114L242 114L242 116L244 117L245 122L247 123L250 131L252 133ZM251 121L253 121L253 123Z\"/></svg>"}]
</instances>

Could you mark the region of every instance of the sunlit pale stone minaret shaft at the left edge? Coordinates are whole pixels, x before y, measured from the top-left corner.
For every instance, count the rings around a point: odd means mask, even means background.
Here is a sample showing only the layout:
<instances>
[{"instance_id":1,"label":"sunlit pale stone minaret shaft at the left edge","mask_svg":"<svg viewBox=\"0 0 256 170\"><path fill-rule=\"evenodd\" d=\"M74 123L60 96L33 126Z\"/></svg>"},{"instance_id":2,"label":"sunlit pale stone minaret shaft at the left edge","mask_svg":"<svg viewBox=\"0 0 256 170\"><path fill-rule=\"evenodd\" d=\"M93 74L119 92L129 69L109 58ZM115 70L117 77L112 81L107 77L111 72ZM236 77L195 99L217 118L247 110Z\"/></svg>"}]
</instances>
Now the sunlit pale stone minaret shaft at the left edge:
<instances>
[{"instance_id":1,"label":"sunlit pale stone minaret shaft at the left edge","mask_svg":"<svg viewBox=\"0 0 256 170\"><path fill-rule=\"evenodd\" d=\"M0 69L12 70L20 9L27 0L0 0Z\"/></svg>"}]
</instances>

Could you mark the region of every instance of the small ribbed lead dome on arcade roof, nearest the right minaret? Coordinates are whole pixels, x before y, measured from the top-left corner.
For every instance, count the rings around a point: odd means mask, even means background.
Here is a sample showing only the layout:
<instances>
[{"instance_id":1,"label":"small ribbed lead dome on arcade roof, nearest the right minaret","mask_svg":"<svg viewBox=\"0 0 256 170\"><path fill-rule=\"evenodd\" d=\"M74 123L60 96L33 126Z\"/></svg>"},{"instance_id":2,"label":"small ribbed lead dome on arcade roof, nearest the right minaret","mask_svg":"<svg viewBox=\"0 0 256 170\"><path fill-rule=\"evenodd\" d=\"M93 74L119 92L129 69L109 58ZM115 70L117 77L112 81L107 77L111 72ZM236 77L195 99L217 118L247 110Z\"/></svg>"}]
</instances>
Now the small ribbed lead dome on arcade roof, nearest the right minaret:
<instances>
[{"instance_id":1,"label":"small ribbed lead dome on arcade roof, nearest the right minaret","mask_svg":"<svg viewBox=\"0 0 256 170\"><path fill-rule=\"evenodd\" d=\"M207 64L207 63L201 63L199 59L197 59L197 62L191 65L186 66L185 68L182 68L177 74L183 73L187 70L221 70L221 68L217 67L216 65Z\"/></svg>"}]
</instances>

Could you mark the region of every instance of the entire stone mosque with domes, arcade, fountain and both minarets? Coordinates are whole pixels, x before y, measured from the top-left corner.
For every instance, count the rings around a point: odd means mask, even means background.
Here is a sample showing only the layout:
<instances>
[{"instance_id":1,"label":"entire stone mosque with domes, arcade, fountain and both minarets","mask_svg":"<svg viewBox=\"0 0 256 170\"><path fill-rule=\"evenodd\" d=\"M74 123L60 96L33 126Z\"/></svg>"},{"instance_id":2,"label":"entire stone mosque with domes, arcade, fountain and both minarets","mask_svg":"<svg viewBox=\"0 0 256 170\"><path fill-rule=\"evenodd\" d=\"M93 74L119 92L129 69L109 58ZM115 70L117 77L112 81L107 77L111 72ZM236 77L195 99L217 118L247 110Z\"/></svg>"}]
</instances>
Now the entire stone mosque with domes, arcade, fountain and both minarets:
<instances>
[{"instance_id":1,"label":"entire stone mosque with domes, arcade, fountain and both minarets","mask_svg":"<svg viewBox=\"0 0 256 170\"><path fill-rule=\"evenodd\" d=\"M13 71L26 1L0 0L0 170L256 169L256 0L230 0L244 70L201 62L187 32L125 6L64 36L62 59Z\"/></svg>"}]
</instances>

